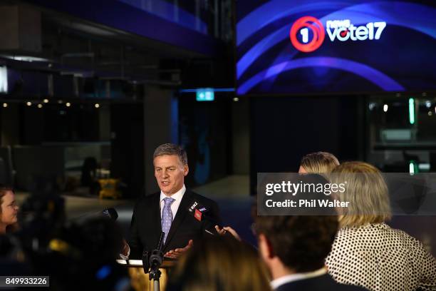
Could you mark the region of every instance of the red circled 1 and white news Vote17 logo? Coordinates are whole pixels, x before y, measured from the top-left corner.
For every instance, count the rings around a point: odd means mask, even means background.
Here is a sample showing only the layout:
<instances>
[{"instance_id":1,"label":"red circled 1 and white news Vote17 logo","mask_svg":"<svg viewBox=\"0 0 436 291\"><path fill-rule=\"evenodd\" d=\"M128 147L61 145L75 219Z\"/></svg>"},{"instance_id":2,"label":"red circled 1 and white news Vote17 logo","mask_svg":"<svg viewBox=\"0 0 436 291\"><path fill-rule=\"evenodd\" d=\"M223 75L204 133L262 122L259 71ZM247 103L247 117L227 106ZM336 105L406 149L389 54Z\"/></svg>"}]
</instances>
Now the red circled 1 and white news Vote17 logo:
<instances>
[{"instance_id":1,"label":"red circled 1 and white news Vote17 logo","mask_svg":"<svg viewBox=\"0 0 436 291\"><path fill-rule=\"evenodd\" d=\"M385 21L368 22L366 25L354 26L350 19L327 20L326 31L330 41L365 41L380 39ZM309 36L311 35L311 41ZM299 41L299 37L301 41ZM292 45L299 51L310 53L316 51L326 37L324 26L319 19L313 16L303 16L297 19L289 31Z\"/></svg>"}]
</instances>

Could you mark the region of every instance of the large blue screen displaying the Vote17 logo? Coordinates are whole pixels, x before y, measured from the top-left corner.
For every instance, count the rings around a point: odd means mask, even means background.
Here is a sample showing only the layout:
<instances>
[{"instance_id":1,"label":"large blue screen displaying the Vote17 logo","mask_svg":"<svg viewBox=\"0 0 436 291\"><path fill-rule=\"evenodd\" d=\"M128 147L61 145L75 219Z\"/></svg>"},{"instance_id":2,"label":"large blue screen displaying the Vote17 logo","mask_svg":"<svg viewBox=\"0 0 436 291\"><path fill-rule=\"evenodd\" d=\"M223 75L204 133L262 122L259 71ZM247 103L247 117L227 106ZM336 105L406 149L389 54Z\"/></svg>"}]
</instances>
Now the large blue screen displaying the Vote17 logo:
<instances>
[{"instance_id":1,"label":"large blue screen displaying the Vote17 logo","mask_svg":"<svg viewBox=\"0 0 436 291\"><path fill-rule=\"evenodd\" d=\"M436 90L436 1L237 1L237 93Z\"/></svg>"}]
</instances>

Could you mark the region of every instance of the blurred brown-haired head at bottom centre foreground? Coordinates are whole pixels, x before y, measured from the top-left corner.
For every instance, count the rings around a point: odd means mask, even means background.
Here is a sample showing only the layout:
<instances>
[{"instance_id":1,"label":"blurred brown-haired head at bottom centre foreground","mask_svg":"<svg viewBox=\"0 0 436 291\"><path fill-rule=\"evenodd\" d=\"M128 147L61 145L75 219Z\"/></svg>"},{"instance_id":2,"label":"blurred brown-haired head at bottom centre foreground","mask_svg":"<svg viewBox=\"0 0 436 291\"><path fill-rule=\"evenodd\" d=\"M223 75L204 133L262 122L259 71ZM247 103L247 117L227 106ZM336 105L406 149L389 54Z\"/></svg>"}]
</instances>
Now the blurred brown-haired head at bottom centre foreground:
<instances>
[{"instance_id":1,"label":"blurred brown-haired head at bottom centre foreground","mask_svg":"<svg viewBox=\"0 0 436 291\"><path fill-rule=\"evenodd\" d=\"M271 290L256 250L225 236L194 242L172 270L169 283L169 290Z\"/></svg>"}]
</instances>

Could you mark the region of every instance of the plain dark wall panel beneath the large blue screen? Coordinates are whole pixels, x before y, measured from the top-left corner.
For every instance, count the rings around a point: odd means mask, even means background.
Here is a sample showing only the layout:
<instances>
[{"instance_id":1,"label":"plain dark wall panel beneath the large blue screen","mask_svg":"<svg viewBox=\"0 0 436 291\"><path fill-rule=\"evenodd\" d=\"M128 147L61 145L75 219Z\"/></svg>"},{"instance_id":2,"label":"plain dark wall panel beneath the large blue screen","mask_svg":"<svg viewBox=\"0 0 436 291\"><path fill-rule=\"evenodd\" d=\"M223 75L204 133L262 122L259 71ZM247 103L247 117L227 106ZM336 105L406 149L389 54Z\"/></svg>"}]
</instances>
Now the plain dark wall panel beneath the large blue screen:
<instances>
[{"instance_id":1,"label":"plain dark wall panel beneath the large blue screen","mask_svg":"<svg viewBox=\"0 0 436 291\"><path fill-rule=\"evenodd\" d=\"M296 172L303 155L323 150L363 159L360 96L253 97L250 100L251 194L256 173Z\"/></svg>"}]
</instances>

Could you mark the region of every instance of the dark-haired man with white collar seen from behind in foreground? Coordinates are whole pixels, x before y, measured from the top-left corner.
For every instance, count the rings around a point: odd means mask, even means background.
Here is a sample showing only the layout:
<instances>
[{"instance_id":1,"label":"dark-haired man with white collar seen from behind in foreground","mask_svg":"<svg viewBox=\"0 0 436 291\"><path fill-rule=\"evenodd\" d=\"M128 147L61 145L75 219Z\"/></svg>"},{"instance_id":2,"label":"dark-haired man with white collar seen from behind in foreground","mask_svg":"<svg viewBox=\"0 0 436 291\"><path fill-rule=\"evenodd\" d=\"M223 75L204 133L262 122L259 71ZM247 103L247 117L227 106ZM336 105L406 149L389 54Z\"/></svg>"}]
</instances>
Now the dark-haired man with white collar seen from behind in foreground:
<instances>
[{"instance_id":1,"label":"dark-haired man with white collar seen from behind in foreground","mask_svg":"<svg viewBox=\"0 0 436 291\"><path fill-rule=\"evenodd\" d=\"M275 291L358 291L327 273L324 260L338 230L336 216L258 216L259 252Z\"/></svg>"}]
</instances>

